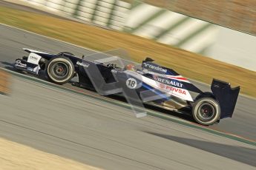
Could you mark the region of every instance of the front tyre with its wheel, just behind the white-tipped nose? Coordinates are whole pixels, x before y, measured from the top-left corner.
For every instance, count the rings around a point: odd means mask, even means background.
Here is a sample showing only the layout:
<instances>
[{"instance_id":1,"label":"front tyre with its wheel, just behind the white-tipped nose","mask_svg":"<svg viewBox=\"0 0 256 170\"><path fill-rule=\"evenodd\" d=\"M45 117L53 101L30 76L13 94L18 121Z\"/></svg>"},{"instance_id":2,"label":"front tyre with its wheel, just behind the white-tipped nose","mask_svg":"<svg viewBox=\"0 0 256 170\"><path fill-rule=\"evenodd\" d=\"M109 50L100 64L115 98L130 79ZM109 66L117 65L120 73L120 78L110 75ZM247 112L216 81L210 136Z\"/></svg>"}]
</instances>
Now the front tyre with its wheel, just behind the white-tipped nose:
<instances>
[{"instance_id":1,"label":"front tyre with its wheel, just behind the white-tipped nose","mask_svg":"<svg viewBox=\"0 0 256 170\"><path fill-rule=\"evenodd\" d=\"M51 58L46 66L47 78L56 84L65 84L73 78L74 67L72 61L64 56Z\"/></svg>"}]
</instances>

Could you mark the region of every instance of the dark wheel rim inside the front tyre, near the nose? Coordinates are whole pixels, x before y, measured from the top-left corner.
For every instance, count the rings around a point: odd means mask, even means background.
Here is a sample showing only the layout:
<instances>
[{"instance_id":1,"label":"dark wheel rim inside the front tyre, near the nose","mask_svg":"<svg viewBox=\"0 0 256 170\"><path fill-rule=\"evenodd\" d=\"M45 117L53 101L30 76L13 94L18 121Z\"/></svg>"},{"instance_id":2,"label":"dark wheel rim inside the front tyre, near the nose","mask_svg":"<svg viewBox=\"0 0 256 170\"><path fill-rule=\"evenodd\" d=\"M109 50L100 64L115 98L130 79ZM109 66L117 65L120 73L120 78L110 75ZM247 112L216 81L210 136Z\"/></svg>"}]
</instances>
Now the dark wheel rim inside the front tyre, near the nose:
<instances>
[{"instance_id":1,"label":"dark wheel rim inside the front tyre, near the nose","mask_svg":"<svg viewBox=\"0 0 256 170\"><path fill-rule=\"evenodd\" d=\"M62 62L57 62L53 64L51 71L56 78L65 78L65 76L68 75L68 65Z\"/></svg>"}]
</instances>

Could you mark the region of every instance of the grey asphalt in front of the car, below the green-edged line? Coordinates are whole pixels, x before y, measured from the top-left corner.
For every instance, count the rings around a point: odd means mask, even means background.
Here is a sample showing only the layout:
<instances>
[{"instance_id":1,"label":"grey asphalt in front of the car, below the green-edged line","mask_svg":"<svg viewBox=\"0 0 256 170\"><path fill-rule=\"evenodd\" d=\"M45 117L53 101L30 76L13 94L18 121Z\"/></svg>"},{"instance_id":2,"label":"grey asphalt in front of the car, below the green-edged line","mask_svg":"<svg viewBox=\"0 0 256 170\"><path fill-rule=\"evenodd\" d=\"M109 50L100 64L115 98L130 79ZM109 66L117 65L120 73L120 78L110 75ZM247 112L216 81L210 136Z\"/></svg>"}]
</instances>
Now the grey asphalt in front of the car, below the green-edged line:
<instances>
[{"instance_id":1,"label":"grey asphalt in front of the car, below the green-edged line","mask_svg":"<svg viewBox=\"0 0 256 170\"><path fill-rule=\"evenodd\" d=\"M102 169L256 169L256 146L37 80L0 95L0 137Z\"/></svg>"}]
</instances>

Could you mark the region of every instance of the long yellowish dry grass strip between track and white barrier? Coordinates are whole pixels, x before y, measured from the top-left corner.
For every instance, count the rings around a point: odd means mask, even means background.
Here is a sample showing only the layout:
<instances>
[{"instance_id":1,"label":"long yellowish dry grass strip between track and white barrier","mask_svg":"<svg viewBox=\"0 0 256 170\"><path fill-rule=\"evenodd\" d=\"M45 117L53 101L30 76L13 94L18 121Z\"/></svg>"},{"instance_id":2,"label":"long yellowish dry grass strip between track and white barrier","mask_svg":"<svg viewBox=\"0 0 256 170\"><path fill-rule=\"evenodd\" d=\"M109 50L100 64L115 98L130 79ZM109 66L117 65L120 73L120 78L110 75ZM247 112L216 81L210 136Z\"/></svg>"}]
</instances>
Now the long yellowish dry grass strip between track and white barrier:
<instances>
[{"instance_id":1,"label":"long yellowish dry grass strip between track and white barrier","mask_svg":"<svg viewBox=\"0 0 256 170\"><path fill-rule=\"evenodd\" d=\"M202 55L180 50L128 33L105 30L60 18L0 7L0 23L68 41L93 50L127 50L134 61L152 56L157 63L176 69L181 75L211 84L212 78L241 86L241 92L256 97L256 72Z\"/></svg>"}]
</instances>

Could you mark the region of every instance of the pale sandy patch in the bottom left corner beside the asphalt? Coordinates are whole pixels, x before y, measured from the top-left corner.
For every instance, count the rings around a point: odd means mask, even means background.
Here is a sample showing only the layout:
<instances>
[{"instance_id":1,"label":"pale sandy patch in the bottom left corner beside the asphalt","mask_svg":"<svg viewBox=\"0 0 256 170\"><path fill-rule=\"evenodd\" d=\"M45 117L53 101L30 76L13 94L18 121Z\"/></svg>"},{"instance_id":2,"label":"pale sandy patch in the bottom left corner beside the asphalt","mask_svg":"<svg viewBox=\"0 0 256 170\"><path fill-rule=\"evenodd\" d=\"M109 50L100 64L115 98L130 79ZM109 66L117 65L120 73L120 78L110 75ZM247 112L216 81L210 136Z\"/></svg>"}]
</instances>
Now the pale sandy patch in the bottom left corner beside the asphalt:
<instances>
[{"instance_id":1,"label":"pale sandy patch in the bottom left corner beside the asphalt","mask_svg":"<svg viewBox=\"0 0 256 170\"><path fill-rule=\"evenodd\" d=\"M0 138L1 169L62 169L62 170L99 170L74 160L48 154L19 143Z\"/></svg>"}]
</instances>

